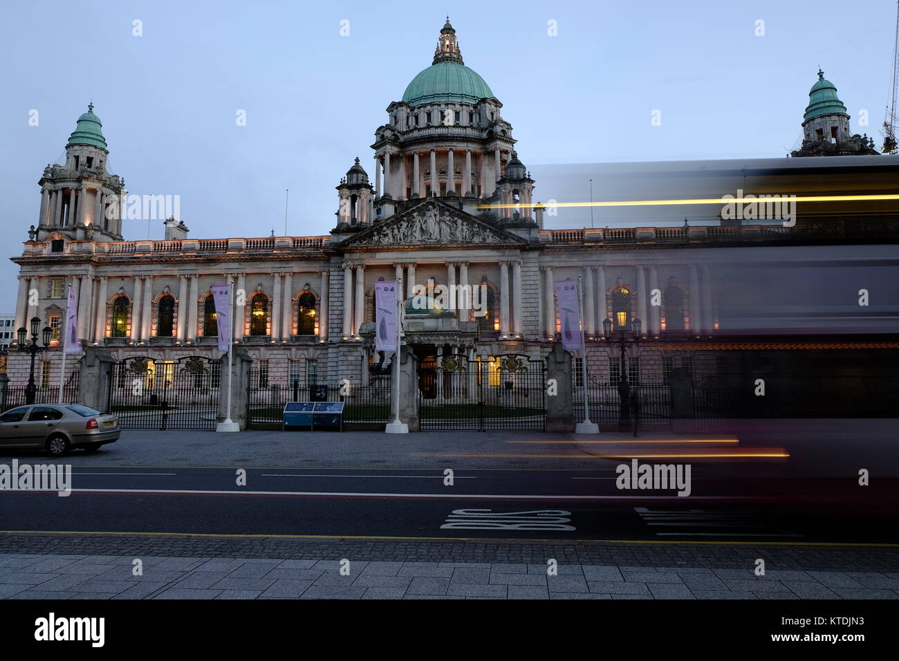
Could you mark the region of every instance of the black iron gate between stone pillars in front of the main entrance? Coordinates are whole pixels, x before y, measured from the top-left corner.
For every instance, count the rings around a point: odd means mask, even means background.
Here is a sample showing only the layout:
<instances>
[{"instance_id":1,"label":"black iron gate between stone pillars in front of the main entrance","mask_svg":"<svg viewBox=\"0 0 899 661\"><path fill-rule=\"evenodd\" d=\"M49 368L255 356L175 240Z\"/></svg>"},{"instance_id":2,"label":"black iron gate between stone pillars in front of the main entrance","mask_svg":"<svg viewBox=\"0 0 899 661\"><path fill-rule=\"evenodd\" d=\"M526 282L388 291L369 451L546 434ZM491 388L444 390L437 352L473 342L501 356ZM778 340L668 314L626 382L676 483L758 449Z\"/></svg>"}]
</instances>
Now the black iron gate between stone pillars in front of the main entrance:
<instances>
[{"instance_id":1,"label":"black iron gate between stone pillars in front of the main entrance","mask_svg":"<svg viewBox=\"0 0 899 661\"><path fill-rule=\"evenodd\" d=\"M546 361L514 353L427 356L418 364L420 428L543 431L546 371Z\"/></svg>"}]
</instances>

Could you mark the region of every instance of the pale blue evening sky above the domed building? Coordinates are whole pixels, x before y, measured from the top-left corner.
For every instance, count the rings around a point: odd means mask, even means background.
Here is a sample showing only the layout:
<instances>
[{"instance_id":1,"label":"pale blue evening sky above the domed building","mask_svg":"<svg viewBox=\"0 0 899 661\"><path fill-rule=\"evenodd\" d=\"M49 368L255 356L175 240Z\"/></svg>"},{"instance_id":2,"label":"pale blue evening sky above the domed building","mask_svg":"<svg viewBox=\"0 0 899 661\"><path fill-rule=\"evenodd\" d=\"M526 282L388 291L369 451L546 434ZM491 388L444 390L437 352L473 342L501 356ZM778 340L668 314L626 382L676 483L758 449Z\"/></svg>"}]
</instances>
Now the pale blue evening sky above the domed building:
<instances>
[{"instance_id":1,"label":"pale blue evening sky above the domed building","mask_svg":"<svg viewBox=\"0 0 899 661\"><path fill-rule=\"evenodd\" d=\"M334 227L334 186L354 156L373 178L374 130L431 64L446 13L466 65L503 102L535 200L574 201L541 189L541 170L785 156L801 137L819 65L852 130L879 147L895 11L893 0L7 4L7 256L37 221L44 166L58 160L91 100L111 172L129 192L180 195L191 237L282 235L288 188L289 234L319 235ZM135 20L143 36L133 36ZM236 126L238 110L246 126ZM654 110L661 126L651 125ZM859 126L861 110L868 126ZM586 182L583 190L585 200ZM147 237L146 221L130 223L126 239ZM161 221L152 225L150 236L161 238ZM17 271L0 264L9 283L0 309L13 309Z\"/></svg>"}]
</instances>

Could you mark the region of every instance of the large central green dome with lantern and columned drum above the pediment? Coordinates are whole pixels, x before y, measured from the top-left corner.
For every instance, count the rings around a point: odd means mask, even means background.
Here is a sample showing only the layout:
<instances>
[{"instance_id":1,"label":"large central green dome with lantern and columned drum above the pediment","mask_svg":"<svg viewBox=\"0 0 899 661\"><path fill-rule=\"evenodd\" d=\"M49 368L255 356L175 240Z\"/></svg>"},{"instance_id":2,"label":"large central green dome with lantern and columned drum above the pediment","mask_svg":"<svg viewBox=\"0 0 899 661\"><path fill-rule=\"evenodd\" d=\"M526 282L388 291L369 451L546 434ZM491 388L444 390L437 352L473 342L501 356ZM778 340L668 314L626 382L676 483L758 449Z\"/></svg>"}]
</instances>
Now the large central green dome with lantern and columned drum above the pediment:
<instances>
[{"instance_id":1,"label":"large central green dome with lantern and columned drum above the pediment","mask_svg":"<svg viewBox=\"0 0 899 661\"><path fill-rule=\"evenodd\" d=\"M506 175L515 140L502 108L485 79L465 65L448 16L431 66L406 85L402 101L387 106L387 123L375 131L375 221L438 197L474 215L485 214L479 208L485 204L512 203L494 219L535 225L533 181ZM512 184L503 188L503 181Z\"/></svg>"}]
</instances>

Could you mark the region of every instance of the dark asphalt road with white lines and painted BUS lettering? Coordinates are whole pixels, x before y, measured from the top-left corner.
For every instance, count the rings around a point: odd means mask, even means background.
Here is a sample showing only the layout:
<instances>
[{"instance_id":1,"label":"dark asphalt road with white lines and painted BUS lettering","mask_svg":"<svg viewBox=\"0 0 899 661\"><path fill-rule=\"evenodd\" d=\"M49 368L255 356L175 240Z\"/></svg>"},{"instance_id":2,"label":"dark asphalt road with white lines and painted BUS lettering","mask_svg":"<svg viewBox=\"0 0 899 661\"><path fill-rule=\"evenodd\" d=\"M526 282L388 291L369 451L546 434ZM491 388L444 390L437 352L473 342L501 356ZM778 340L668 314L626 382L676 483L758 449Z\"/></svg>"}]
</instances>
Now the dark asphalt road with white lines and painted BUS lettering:
<instances>
[{"instance_id":1,"label":"dark asphalt road with white lines and painted BUS lettering","mask_svg":"<svg viewBox=\"0 0 899 661\"><path fill-rule=\"evenodd\" d=\"M21 458L22 461L26 458ZM33 458L31 459L33 460ZM9 461L4 459L4 461ZM245 480L238 485L238 470ZM894 543L894 480L694 466L691 493L622 490L616 469L102 467L72 493L5 491L3 531Z\"/></svg>"}]
</instances>

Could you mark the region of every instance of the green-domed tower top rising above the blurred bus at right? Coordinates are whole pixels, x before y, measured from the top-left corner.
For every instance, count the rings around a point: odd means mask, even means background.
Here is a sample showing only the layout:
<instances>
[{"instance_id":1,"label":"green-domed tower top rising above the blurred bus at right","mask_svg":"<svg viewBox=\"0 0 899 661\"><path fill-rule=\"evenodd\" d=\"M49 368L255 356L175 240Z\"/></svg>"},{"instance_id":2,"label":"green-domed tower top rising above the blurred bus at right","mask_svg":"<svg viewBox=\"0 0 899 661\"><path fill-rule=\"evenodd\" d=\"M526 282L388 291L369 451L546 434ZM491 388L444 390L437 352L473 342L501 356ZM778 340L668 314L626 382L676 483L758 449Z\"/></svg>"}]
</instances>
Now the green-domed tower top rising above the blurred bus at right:
<instances>
[{"instance_id":1,"label":"green-domed tower top rising above the blurred bus at right","mask_svg":"<svg viewBox=\"0 0 899 661\"><path fill-rule=\"evenodd\" d=\"M859 156L877 154L868 135L852 135L850 116L837 96L837 87L818 69L818 80L808 91L803 115L802 147L792 156Z\"/></svg>"}]
</instances>

